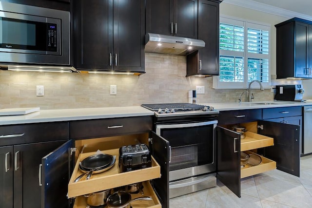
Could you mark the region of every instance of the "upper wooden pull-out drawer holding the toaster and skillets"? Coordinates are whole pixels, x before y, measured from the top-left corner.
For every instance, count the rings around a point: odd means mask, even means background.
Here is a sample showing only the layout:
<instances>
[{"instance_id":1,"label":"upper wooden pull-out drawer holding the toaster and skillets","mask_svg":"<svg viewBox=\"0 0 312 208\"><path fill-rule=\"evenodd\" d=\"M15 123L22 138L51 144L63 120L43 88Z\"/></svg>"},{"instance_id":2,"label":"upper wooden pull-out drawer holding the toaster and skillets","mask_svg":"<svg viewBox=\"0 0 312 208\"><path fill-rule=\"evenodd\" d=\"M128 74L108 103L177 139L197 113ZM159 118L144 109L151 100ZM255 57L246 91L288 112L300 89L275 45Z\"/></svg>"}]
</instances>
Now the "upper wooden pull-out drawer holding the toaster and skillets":
<instances>
[{"instance_id":1,"label":"upper wooden pull-out drawer holding the toaster and skillets","mask_svg":"<svg viewBox=\"0 0 312 208\"><path fill-rule=\"evenodd\" d=\"M89 180L85 180L85 177L78 182L74 182L75 179L83 172L79 170L79 162L84 158L95 154L96 152L81 153L78 156L76 166L68 184L68 198L80 196L83 194L93 193L100 190L107 190L116 187L125 186L128 184L134 184L141 181L148 181L155 178L160 178L160 166L152 156L152 167L144 168L140 170L133 170L128 172L119 172L118 160L119 149L102 151L106 154L116 155L115 165L104 172L93 174Z\"/></svg>"}]
</instances>

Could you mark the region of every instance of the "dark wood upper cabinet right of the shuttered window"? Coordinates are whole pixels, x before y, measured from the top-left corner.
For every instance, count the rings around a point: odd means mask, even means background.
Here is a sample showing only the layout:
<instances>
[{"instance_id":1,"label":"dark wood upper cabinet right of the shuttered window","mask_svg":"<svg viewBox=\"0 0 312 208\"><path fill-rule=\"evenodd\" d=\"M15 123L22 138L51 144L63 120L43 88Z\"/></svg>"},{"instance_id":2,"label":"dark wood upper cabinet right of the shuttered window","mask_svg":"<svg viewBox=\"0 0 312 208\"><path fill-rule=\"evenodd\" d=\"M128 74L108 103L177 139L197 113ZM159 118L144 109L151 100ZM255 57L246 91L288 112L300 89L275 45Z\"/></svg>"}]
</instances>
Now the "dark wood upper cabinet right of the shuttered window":
<instances>
[{"instance_id":1,"label":"dark wood upper cabinet right of the shuttered window","mask_svg":"<svg viewBox=\"0 0 312 208\"><path fill-rule=\"evenodd\" d=\"M312 22L293 18L276 27L276 78L312 78Z\"/></svg>"}]
</instances>

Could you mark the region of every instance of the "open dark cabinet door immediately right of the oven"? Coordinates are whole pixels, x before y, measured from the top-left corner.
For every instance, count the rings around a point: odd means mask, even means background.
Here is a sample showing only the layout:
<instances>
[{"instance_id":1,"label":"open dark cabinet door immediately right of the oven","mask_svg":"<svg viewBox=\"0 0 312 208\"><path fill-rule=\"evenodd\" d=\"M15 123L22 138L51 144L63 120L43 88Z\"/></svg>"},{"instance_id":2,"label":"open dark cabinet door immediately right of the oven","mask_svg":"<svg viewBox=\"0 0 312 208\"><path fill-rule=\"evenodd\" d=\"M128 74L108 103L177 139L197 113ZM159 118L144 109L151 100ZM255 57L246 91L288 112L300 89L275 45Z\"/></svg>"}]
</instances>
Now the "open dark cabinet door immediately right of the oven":
<instances>
[{"instance_id":1,"label":"open dark cabinet door immediately right of the oven","mask_svg":"<svg viewBox=\"0 0 312 208\"><path fill-rule=\"evenodd\" d=\"M216 177L240 197L240 134L217 126Z\"/></svg>"}]
</instances>

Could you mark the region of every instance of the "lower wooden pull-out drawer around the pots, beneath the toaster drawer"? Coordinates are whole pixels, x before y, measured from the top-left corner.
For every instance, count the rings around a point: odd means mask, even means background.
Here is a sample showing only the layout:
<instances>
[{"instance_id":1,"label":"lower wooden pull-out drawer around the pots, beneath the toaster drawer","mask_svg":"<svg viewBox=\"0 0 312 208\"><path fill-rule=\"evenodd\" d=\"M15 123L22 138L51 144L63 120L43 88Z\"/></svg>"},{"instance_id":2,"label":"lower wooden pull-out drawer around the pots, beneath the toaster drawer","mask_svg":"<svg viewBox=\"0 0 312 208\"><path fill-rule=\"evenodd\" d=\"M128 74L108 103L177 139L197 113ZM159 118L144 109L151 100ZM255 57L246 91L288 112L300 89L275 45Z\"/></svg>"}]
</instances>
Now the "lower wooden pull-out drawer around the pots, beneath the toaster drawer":
<instances>
[{"instance_id":1,"label":"lower wooden pull-out drawer around the pots, beneath the toaster drawer","mask_svg":"<svg viewBox=\"0 0 312 208\"><path fill-rule=\"evenodd\" d=\"M141 193L131 194L131 198L135 199L140 196L151 196L153 200L138 200L131 203L132 208L161 208L161 204L156 196L154 189L149 181L143 182L143 192L144 195ZM74 208L86 208L87 199L84 196L78 196L75 199Z\"/></svg>"}]
</instances>

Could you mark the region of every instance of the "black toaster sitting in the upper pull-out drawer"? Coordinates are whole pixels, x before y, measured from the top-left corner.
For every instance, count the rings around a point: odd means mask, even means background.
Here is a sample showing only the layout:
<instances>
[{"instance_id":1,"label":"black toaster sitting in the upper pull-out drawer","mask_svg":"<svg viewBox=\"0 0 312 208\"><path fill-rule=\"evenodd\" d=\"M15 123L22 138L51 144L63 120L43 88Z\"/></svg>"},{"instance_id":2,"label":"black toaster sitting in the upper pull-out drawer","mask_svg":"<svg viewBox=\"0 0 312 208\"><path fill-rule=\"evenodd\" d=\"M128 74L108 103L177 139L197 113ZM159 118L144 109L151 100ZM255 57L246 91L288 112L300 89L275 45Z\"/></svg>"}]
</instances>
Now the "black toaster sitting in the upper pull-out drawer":
<instances>
[{"instance_id":1,"label":"black toaster sitting in the upper pull-out drawer","mask_svg":"<svg viewBox=\"0 0 312 208\"><path fill-rule=\"evenodd\" d=\"M118 165L120 172L152 167L148 147L145 144L136 144L119 148Z\"/></svg>"}]
</instances>

